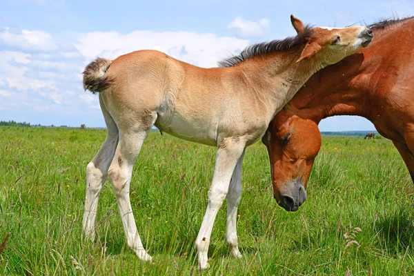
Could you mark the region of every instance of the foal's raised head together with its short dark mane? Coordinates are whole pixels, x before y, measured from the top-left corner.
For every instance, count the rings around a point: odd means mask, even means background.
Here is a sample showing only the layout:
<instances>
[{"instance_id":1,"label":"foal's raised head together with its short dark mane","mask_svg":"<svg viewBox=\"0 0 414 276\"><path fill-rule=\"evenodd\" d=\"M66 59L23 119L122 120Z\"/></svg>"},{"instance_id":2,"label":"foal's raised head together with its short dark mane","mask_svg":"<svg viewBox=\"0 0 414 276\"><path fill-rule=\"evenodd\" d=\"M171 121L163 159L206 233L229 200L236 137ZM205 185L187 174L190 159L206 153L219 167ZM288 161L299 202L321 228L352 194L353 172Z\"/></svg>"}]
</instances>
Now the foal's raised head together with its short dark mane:
<instances>
[{"instance_id":1,"label":"foal's raised head together with its short dark mane","mask_svg":"<svg viewBox=\"0 0 414 276\"><path fill-rule=\"evenodd\" d=\"M362 26L311 28L304 26L304 23L293 15L290 15L290 21L297 32L296 37L248 46L239 55L219 61L219 66L237 66L253 57L273 55L279 57L280 53L287 52L289 57L293 57L296 63L302 66L307 75L309 72L313 73L315 70L337 63L361 47L368 46L373 38L373 32Z\"/></svg>"}]
</instances>

